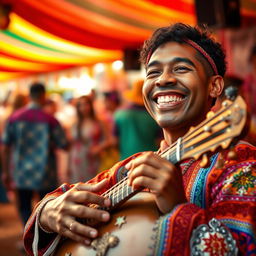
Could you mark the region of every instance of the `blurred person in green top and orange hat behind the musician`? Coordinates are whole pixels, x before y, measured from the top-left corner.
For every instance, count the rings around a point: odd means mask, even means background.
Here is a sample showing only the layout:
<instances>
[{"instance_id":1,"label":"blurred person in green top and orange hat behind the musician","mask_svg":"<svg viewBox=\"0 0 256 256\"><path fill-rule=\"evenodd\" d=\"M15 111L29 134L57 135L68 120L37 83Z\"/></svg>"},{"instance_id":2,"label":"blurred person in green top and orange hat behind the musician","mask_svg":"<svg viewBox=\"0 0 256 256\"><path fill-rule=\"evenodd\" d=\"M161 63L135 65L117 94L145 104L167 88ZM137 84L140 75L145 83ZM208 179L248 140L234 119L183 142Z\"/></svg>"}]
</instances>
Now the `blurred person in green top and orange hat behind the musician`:
<instances>
[{"instance_id":1,"label":"blurred person in green top and orange hat behind the musician","mask_svg":"<svg viewBox=\"0 0 256 256\"><path fill-rule=\"evenodd\" d=\"M123 93L127 104L114 114L120 160L137 152L156 151L159 146L161 130L144 106L142 87L143 80L135 81Z\"/></svg>"}]
</instances>

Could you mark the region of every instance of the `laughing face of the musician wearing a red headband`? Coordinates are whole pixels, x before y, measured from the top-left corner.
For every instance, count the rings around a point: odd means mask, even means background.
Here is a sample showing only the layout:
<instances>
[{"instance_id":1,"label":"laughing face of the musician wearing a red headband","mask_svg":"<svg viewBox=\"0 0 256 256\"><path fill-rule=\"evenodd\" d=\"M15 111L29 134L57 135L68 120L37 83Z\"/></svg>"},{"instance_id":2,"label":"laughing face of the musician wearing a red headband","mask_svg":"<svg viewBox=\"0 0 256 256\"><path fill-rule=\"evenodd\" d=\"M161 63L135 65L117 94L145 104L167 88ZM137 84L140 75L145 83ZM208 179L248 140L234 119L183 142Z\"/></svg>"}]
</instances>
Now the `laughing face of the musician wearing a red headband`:
<instances>
[{"instance_id":1,"label":"laughing face of the musician wearing a red headband","mask_svg":"<svg viewBox=\"0 0 256 256\"><path fill-rule=\"evenodd\" d=\"M202 121L210 109L209 78L198 55L187 44L168 42L149 60L144 102L162 128L186 130Z\"/></svg>"}]
</instances>

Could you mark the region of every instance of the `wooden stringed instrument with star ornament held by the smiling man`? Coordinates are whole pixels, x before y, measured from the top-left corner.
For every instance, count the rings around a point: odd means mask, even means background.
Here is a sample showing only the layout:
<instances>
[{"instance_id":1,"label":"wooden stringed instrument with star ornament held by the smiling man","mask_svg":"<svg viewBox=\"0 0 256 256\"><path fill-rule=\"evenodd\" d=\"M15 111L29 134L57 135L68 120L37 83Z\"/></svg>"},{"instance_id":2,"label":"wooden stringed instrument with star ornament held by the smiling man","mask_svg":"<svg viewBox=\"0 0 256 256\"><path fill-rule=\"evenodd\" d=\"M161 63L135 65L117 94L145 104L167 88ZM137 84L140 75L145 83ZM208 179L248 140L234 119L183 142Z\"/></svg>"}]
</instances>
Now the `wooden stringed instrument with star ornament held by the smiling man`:
<instances>
[{"instance_id":1,"label":"wooden stringed instrument with star ornament held by the smiling man","mask_svg":"<svg viewBox=\"0 0 256 256\"><path fill-rule=\"evenodd\" d=\"M177 164L181 160L201 157L218 147L230 146L240 135L246 123L246 104L241 96L226 100L216 113L208 113L206 120L192 127L178 139L161 157ZM204 158L203 158L204 159ZM149 192L133 190L125 177L103 195L112 201L111 220L97 226L99 237L86 246L72 240L64 240L55 250L55 256L125 256L152 254L151 236L160 213L154 196ZM92 206L95 207L95 206Z\"/></svg>"}]
</instances>

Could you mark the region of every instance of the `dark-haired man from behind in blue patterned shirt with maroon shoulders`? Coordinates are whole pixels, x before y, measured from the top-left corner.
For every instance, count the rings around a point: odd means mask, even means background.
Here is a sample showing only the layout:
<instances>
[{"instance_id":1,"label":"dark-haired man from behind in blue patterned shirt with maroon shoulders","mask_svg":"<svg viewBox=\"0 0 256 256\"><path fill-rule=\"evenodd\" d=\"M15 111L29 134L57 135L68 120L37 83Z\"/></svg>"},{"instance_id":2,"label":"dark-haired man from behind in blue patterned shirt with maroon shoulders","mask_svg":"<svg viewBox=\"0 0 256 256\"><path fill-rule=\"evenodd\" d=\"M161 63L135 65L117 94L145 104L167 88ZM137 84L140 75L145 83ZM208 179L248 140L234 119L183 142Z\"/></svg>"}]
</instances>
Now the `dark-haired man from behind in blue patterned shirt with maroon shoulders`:
<instances>
[{"instance_id":1,"label":"dark-haired man from behind in blue patterned shirt with maroon shoulders","mask_svg":"<svg viewBox=\"0 0 256 256\"><path fill-rule=\"evenodd\" d=\"M45 86L32 84L29 96L30 103L8 118L2 135L1 152L3 183L8 188L13 180L24 225L31 215L34 194L43 198L58 186L54 149L67 148L62 127L42 110Z\"/></svg>"}]
</instances>

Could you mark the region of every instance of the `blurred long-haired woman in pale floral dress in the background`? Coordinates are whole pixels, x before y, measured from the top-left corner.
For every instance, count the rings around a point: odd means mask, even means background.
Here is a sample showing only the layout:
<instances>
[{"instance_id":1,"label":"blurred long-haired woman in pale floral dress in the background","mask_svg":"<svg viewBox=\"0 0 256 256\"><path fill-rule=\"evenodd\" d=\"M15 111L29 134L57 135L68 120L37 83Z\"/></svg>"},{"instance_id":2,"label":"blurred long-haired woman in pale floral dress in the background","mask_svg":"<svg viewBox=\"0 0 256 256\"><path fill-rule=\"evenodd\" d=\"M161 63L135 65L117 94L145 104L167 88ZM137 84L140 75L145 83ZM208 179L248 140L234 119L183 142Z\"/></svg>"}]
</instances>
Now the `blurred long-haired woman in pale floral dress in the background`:
<instances>
[{"instance_id":1,"label":"blurred long-haired woman in pale floral dress in the background","mask_svg":"<svg viewBox=\"0 0 256 256\"><path fill-rule=\"evenodd\" d=\"M77 121L70 131L68 176L71 183L88 181L98 173L100 152L106 147L106 134L90 96L77 99L76 113Z\"/></svg>"}]
</instances>

